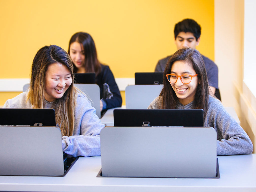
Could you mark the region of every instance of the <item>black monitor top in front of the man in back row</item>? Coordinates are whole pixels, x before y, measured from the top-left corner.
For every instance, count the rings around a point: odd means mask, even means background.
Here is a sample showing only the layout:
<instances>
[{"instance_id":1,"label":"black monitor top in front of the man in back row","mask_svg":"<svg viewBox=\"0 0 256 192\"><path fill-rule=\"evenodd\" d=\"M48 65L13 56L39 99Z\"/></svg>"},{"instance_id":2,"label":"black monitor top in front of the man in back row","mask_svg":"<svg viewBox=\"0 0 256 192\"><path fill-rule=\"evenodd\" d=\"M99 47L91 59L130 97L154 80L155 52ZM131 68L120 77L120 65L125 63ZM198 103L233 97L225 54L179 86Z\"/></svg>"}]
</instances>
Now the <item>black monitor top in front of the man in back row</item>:
<instances>
[{"instance_id":1,"label":"black monitor top in front of the man in back row","mask_svg":"<svg viewBox=\"0 0 256 192\"><path fill-rule=\"evenodd\" d=\"M161 85L164 81L164 72L135 73L135 85Z\"/></svg>"}]
</instances>

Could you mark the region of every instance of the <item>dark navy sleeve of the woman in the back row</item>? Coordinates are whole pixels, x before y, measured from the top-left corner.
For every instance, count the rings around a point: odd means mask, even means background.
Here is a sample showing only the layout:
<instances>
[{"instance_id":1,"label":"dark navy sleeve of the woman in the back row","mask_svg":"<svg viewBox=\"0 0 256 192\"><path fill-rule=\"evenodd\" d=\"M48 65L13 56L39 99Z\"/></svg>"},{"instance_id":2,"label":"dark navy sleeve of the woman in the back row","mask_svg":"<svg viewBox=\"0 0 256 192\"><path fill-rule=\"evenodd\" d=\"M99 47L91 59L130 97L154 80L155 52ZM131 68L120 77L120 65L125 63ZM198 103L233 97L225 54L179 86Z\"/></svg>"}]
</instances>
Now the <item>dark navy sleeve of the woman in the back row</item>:
<instances>
[{"instance_id":1,"label":"dark navy sleeve of the woman in the back row","mask_svg":"<svg viewBox=\"0 0 256 192\"><path fill-rule=\"evenodd\" d=\"M106 109L112 109L116 107L122 106L122 97L119 91L119 88L115 82L114 75L110 68L107 66L105 67L105 71L103 73L103 84L107 83L110 88L110 92L113 93L113 97L111 99L102 99L106 103Z\"/></svg>"}]
</instances>

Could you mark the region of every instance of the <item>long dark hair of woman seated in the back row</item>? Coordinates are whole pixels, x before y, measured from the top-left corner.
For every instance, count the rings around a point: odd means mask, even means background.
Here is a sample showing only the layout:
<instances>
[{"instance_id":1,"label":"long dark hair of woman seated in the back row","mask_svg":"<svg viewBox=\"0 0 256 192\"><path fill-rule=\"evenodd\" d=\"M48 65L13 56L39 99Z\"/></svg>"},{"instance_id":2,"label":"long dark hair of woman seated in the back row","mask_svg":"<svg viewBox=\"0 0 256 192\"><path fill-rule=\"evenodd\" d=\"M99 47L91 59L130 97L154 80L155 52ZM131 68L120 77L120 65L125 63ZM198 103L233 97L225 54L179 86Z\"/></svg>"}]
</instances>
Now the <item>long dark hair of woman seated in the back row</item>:
<instances>
[{"instance_id":1,"label":"long dark hair of woman seated in the back row","mask_svg":"<svg viewBox=\"0 0 256 192\"><path fill-rule=\"evenodd\" d=\"M95 43L88 33L76 33L74 34L70 41L69 41L69 48L68 48L68 54L70 55L70 45L73 42L80 43L81 46L83 46L84 55L85 55L85 71L87 73L94 72L96 73L96 76L101 72L101 65L98 60L97 56L97 50L95 47ZM74 65L74 72L76 73L78 71L77 67Z\"/></svg>"}]
</instances>

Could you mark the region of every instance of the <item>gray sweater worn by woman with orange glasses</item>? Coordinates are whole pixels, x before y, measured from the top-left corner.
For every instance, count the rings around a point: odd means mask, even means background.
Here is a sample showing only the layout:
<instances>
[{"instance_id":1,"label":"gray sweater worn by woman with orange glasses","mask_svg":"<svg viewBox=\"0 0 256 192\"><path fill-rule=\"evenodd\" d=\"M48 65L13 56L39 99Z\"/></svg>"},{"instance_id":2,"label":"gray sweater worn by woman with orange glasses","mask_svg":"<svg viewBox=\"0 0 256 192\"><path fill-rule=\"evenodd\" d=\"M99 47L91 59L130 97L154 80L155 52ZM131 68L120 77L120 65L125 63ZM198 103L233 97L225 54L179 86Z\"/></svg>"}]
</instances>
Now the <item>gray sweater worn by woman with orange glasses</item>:
<instances>
[{"instance_id":1,"label":"gray sweater worn by woman with orange glasses","mask_svg":"<svg viewBox=\"0 0 256 192\"><path fill-rule=\"evenodd\" d=\"M148 109L163 109L163 97L156 98ZM184 106L181 103L176 109L193 109L193 102ZM205 127L213 127L218 135L217 155L251 154L253 145L243 128L226 111L222 103L209 96L208 111L204 121Z\"/></svg>"}]
</instances>

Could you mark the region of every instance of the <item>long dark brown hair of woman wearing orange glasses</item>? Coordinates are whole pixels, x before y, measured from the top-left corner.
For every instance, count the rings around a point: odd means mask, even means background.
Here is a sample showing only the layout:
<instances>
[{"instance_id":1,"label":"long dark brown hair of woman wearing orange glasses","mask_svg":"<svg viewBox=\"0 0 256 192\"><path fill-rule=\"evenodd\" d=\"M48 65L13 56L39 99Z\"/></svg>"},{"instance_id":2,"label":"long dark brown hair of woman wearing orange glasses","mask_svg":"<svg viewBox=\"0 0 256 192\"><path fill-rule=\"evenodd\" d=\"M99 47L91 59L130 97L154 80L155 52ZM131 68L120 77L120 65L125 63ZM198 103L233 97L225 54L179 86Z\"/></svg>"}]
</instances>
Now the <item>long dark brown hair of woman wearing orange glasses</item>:
<instances>
[{"instance_id":1,"label":"long dark brown hair of woman wearing orange glasses","mask_svg":"<svg viewBox=\"0 0 256 192\"><path fill-rule=\"evenodd\" d=\"M167 62L164 71L164 88L159 96L163 96L163 109L176 109L178 97L166 78L166 74L170 74L172 66L177 61L188 63L198 74L198 84L193 103L193 109L203 109L204 119L208 110L209 102L209 84L205 69L204 60L198 50L192 48L183 48L178 50Z\"/></svg>"}]
</instances>

